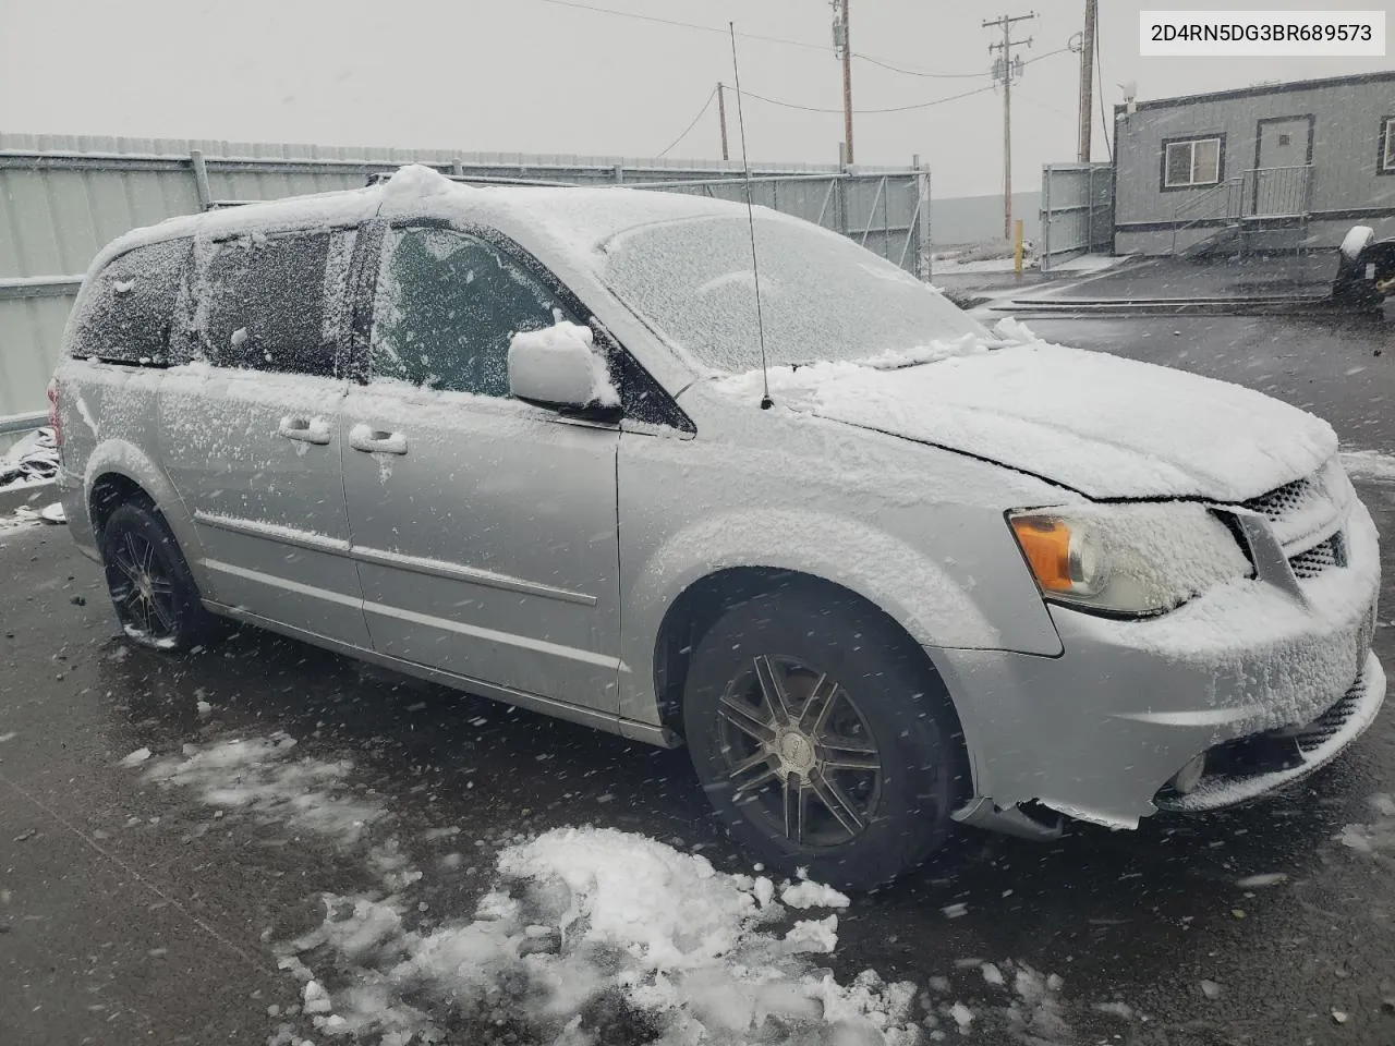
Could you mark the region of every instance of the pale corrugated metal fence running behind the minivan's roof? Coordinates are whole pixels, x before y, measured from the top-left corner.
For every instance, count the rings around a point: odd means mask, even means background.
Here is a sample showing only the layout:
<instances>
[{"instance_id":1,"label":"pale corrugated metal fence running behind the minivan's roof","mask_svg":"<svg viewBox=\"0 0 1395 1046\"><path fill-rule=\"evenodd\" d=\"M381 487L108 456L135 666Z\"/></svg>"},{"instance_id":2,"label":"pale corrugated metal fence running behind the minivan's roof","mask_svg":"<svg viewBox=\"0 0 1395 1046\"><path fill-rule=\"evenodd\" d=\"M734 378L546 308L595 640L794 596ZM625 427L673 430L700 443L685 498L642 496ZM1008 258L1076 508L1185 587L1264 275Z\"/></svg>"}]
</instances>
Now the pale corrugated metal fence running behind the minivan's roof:
<instances>
[{"instance_id":1,"label":"pale corrugated metal fence running behind the minivan's roof","mask_svg":"<svg viewBox=\"0 0 1395 1046\"><path fill-rule=\"evenodd\" d=\"M107 241L206 202L357 188L370 172L412 162L480 180L646 184L745 199L739 166L710 160L0 132L0 418L43 407L74 278ZM795 163L764 165L753 176L757 204L845 233L929 278L923 169Z\"/></svg>"}]
</instances>

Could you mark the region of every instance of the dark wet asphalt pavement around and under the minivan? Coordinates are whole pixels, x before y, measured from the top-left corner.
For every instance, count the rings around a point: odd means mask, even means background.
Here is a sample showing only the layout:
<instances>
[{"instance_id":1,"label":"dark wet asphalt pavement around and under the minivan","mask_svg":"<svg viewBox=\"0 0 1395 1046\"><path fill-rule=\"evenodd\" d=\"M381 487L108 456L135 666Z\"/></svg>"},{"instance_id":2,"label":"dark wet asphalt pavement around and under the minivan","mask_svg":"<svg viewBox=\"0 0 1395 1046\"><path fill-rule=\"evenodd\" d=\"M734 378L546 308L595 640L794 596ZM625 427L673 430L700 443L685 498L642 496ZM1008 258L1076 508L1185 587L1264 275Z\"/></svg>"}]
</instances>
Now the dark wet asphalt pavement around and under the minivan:
<instances>
[{"instance_id":1,"label":"dark wet asphalt pavement around and under the minivan","mask_svg":"<svg viewBox=\"0 0 1395 1046\"><path fill-rule=\"evenodd\" d=\"M1032 326L1251 385L1325 416L1345 446L1395 452L1395 328ZM1395 665L1395 483L1357 487L1384 540L1375 650ZM423 870L424 919L473 912L492 854L557 826L643 833L749 870L710 826L681 750L399 685L266 635L183 658L135 650L61 527L0 530L0 1043L292 1040L303 993L276 943L319 923L322 894L368 888L363 859L294 819L213 813L141 768L142 749L153 763L278 732L386 812ZM1049 845L965 831L926 869L854 898L827 965L843 980L865 968L912 980L932 1010L961 1001L976 1020L965 1035L949 1024L950 1040L1388 1046L1391 794L1385 711L1334 766L1253 808L1159 816L1137 833L1073 827ZM1034 971L1059 978L1045 1001L1020 990ZM1032 1004L1053 1020L1024 1026ZM456 1040L485 1038L463 1028Z\"/></svg>"}]
</instances>

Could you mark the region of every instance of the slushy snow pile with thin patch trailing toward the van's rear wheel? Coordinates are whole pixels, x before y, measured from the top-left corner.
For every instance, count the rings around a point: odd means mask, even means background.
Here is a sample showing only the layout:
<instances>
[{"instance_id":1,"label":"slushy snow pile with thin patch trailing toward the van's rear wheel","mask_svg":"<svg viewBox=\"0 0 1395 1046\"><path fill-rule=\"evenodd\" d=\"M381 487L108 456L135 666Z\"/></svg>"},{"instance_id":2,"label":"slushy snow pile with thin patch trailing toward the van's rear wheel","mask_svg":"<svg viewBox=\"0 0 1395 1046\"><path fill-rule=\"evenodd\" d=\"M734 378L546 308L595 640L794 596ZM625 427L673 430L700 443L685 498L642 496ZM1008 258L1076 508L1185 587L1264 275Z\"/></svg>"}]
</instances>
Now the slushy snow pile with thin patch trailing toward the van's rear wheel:
<instances>
[{"instance_id":1,"label":"slushy snow pile with thin patch trailing toward the van's rear wheel","mask_svg":"<svg viewBox=\"0 0 1395 1046\"><path fill-rule=\"evenodd\" d=\"M379 888L321 894L322 923L279 947L282 969L300 982L299 1013L286 1017L317 1042L923 1040L914 985L873 971L844 985L817 967L838 940L827 909L850 904L819 883L725 874L611 828L557 828L513 837L472 918L442 915L414 895L421 872L388 837L386 808L354 788L349 760L306 756L280 732L141 756L127 764L193 789L218 816L363 854ZM306 1035L282 1024L276 1038Z\"/></svg>"}]
</instances>

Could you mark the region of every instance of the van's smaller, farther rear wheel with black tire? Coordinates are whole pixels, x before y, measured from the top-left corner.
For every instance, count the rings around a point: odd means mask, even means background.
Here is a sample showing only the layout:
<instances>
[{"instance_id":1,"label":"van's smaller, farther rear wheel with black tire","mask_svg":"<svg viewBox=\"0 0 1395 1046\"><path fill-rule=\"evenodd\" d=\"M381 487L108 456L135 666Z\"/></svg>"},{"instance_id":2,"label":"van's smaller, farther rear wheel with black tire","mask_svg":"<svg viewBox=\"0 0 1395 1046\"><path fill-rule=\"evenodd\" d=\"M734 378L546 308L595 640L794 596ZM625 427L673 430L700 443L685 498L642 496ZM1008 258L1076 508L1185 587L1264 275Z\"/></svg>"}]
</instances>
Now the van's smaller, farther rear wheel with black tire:
<instances>
[{"instance_id":1,"label":"van's smaller, farther rear wheel with black tire","mask_svg":"<svg viewBox=\"0 0 1395 1046\"><path fill-rule=\"evenodd\" d=\"M106 587L131 642L186 651L208 637L212 615L204 609L179 543L153 508L117 508L102 529L100 545Z\"/></svg>"}]
</instances>

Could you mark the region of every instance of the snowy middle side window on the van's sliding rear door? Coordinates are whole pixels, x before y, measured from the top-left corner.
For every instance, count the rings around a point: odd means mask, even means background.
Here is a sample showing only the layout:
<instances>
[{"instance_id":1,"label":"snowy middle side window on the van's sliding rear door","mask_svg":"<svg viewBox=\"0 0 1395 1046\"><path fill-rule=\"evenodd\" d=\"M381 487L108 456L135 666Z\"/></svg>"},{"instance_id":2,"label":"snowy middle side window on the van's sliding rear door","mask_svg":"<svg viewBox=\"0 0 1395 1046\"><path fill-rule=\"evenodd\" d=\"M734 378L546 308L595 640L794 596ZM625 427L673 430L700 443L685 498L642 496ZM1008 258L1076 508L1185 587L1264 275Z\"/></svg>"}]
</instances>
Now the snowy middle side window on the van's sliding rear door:
<instances>
[{"instance_id":1,"label":"snowy middle side window on the van's sliding rear door","mask_svg":"<svg viewBox=\"0 0 1395 1046\"><path fill-rule=\"evenodd\" d=\"M213 244L199 310L209 363L332 378L349 244L328 230Z\"/></svg>"}]
</instances>

